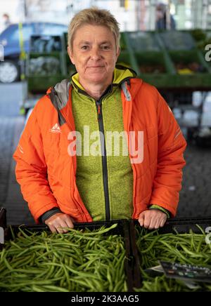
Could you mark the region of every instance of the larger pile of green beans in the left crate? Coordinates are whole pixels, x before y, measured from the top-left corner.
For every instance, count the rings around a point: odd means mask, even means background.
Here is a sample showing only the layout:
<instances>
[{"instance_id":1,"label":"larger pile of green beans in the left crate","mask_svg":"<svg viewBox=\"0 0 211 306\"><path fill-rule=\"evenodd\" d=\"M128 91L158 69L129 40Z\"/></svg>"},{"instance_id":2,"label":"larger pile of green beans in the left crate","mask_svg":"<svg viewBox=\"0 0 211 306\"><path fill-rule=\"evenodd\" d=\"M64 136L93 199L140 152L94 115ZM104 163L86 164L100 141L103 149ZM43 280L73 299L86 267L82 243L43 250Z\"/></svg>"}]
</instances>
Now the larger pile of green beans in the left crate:
<instances>
[{"instance_id":1,"label":"larger pile of green beans in the left crate","mask_svg":"<svg viewBox=\"0 0 211 306\"><path fill-rule=\"evenodd\" d=\"M124 239L109 233L116 226L66 234L20 227L0 251L0 291L127 291Z\"/></svg>"}]
</instances>

